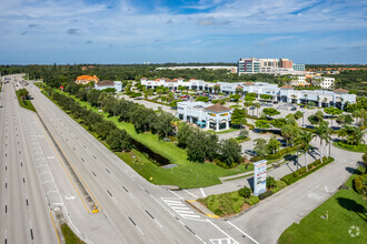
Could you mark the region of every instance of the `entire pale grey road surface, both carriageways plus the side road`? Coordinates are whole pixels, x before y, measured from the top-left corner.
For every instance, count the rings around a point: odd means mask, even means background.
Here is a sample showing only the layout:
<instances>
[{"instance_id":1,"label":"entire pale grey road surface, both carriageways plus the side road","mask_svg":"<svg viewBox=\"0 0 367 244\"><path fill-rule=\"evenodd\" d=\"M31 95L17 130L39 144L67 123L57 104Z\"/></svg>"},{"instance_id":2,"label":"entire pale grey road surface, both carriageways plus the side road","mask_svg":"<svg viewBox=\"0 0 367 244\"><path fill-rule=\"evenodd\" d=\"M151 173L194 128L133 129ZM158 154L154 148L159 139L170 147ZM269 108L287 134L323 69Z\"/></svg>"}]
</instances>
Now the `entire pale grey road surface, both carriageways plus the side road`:
<instances>
[{"instance_id":1,"label":"entire pale grey road surface, both carriageways plus the side road","mask_svg":"<svg viewBox=\"0 0 367 244\"><path fill-rule=\"evenodd\" d=\"M147 182L32 83L27 89L39 116L19 108L17 85L14 75L4 84L0 109L0 237L7 243L62 242L54 211L87 243L276 243L337 190L349 175L345 166L357 161L334 150L337 162L238 217L217 221L185 202L202 191Z\"/></svg>"}]
</instances>

